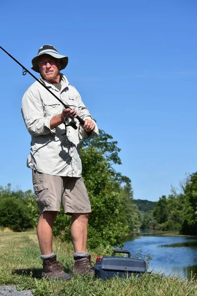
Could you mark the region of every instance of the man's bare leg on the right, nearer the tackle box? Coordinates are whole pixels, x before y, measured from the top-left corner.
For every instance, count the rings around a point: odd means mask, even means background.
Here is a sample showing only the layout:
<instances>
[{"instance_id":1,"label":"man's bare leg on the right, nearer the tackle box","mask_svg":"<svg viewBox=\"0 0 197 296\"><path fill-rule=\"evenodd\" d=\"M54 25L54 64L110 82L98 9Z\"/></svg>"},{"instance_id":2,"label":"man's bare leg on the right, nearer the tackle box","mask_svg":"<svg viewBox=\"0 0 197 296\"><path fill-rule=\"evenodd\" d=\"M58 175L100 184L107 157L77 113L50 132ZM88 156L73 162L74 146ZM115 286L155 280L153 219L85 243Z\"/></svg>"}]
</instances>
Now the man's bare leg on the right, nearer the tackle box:
<instances>
[{"instance_id":1,"label":"man's bare leg on the right, nearer the tackle box","mask_svg":"<svg viewBox=\"0 0 197 296\"><path fill-rule=\"evenodd\" d=\"M74 252L86 252L89 214L72 214L70 233Z\"/></svg>"}]
</instances>

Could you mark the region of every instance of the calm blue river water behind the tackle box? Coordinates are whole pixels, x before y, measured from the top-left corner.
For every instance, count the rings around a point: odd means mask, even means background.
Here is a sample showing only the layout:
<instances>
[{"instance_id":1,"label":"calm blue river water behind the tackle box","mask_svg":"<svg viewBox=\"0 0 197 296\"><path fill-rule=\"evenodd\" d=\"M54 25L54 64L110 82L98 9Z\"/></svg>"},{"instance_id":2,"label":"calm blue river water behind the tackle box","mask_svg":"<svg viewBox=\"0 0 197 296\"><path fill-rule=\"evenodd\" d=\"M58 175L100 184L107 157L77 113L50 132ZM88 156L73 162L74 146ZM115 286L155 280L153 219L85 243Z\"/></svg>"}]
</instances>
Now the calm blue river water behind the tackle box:
<instances>
[{"instance_id":1,"label":"calm blue river water behind the tackle box","mask_svg":"<svg viewBox=\"0 0 197 296\"><path fill-rule=\"evenodd\" d=\"M150 254L149 269L166 275L189 277L197 275L197 238L186 236L162 236L164 232L140 232L127 237L125 250L135 255Z\"/></svg>"}]
</instances>

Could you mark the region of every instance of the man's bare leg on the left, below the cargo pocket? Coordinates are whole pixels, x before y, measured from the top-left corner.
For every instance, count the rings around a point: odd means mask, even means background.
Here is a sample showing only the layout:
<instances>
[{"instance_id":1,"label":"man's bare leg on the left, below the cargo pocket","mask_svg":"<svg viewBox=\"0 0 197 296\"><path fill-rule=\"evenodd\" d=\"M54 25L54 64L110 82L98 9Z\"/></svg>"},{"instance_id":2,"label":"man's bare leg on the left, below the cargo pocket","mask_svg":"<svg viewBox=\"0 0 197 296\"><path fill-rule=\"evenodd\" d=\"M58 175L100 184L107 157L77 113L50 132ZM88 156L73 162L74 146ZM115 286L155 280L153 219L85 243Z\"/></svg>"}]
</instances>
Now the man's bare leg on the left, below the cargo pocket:
<instances>
[{"instance_id":1,"label":"man's bare leg on the left, below the cargo pocket","mask_svg":"<svg viewBox=\"0 0 197 296\"><path fill-rule=\"evenodd\" d=\"M58 212L45 211L43 212L37 224L37 238L42 255L52 253L53 243L53 224Z\"/></svg>"}]
</instances>

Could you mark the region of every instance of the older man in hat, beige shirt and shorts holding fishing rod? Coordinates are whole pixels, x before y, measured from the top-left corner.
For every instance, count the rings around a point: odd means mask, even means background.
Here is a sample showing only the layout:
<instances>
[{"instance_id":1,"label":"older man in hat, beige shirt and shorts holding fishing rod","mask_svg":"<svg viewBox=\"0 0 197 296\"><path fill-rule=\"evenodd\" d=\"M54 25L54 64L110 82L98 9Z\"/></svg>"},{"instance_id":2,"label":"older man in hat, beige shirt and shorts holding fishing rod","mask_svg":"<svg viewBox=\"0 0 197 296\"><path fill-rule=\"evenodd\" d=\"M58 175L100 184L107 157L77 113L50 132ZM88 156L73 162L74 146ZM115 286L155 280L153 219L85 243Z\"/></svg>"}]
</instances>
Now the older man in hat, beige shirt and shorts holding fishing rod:
<instances>
[{"instance_id":1,"label":"older man in hat, beige shirt and shorts holding fishing rod","mask_svg":"<svg viewBox=\"0 0 197 296\"><path fill-rule=\"evenodd\" d=\"M70 108L62 104L40 83L34 82L22 100L22 114L32 136L27 166L32 169L33 188L40 211L37 237L43 259L42 276L70 279L52 251L53 224L63 204L71 215L71 237L74 246L74 274L93 273L90 255L86 252L90 200L81 178L82 164L79 139L97 136L98 127L77 90L60 70L68 58L52 45L43 45L32 60L32 69L40 73L40 81ZM81 117L82 126L77 119ZM65 124L69 116L76 129ZM67 119L67 118L66 118Z\"/></svg>"}]
</instances>

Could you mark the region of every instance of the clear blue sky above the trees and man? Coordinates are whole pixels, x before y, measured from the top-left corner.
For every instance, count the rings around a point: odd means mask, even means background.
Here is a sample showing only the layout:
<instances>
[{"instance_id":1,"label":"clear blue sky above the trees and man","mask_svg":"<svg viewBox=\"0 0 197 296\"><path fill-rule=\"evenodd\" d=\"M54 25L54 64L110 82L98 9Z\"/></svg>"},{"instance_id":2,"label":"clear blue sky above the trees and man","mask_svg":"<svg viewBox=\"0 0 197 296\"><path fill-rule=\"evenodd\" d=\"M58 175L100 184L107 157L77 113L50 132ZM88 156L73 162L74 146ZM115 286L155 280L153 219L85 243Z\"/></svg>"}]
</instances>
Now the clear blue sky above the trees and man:
<instances>
[{"instance_id":1,"label":"clear blue sky above the trees and man","mask_svg":"<svg viewBox=\"0 0 197 296\"><path fill-rule=\"evenodd\" d=\"M30 71L43 44L67 55L63 73L121 148L116 170L156 201L197 171L196 16L196 0L2 0L0 46ZM2 50L0 70L0 185L32 189L20 109L34 79Z\"/></svg>"}]
</instances>

